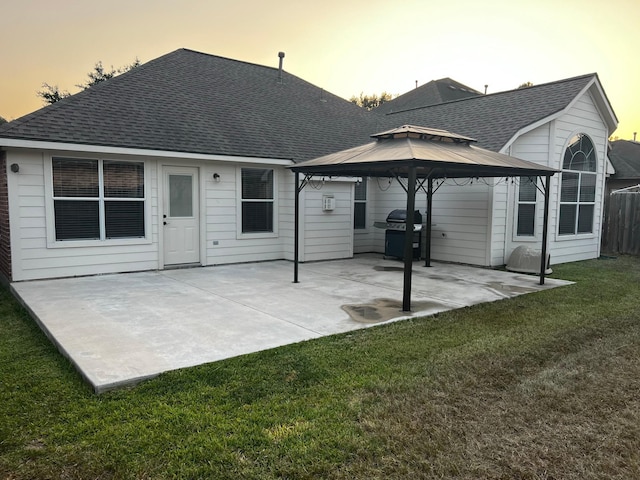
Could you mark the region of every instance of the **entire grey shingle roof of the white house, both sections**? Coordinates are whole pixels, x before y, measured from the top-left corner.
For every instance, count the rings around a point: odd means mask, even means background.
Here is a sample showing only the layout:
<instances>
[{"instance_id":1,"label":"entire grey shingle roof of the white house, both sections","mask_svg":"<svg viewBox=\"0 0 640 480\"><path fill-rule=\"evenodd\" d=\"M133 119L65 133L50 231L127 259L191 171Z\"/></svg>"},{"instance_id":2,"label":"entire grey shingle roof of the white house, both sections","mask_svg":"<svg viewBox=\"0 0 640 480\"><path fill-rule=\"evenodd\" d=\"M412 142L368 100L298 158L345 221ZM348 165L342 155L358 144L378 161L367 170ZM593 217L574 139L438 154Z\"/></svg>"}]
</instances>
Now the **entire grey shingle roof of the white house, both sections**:
<instances>
[{"instance_id":1,"label":"entire grey shingle roof of the white house, both sections","mask_svg":"<svg viewBox=\"0 0 640 480\"><path fill-rule=\"evenodd\" d=\"M4 124L0 138L297 162L412 124L498 151L519 129L565 108L594 76L427 107L406 103L422 108L385 115L286 71L280 82L277 68L180 49Z\"/></svg>"}]
</instances>

